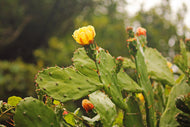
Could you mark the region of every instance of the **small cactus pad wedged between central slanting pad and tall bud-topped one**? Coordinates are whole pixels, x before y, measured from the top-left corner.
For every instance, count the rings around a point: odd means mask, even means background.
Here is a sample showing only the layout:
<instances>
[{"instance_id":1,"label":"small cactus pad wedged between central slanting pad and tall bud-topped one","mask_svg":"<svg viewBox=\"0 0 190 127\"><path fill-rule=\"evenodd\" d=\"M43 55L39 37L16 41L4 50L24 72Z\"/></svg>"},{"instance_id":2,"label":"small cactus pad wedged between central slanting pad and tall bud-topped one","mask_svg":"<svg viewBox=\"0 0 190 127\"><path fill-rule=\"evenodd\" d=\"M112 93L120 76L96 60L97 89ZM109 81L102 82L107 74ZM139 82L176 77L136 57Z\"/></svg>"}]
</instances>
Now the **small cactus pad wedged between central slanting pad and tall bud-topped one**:
<instances>
[{"instance_id":1,"label":"small cactus pad wedged between central slanting pad and tall bud-topped one","mask_svg":"<svg viewBox=\"0 0 190 127\"><path fill-rule=\"evenodd\" d=\"M123 69L117 74L117 79L121 90L135 93L142 92L142 88L133 79L131 79Z\"/></svg>"}]
</instances>

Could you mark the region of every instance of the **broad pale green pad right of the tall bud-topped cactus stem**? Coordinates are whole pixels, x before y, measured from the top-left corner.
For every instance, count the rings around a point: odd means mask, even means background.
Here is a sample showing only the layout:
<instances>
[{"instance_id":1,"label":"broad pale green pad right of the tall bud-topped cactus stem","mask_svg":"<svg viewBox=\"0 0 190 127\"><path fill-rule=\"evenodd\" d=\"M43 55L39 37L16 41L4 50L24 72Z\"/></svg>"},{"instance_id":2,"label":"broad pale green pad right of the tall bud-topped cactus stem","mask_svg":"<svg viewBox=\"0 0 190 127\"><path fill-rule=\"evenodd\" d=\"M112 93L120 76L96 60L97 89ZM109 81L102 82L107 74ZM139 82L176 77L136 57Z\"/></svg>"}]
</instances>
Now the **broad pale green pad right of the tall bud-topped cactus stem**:
<instances>
[{"instance_id":1,"label":"broad pale green pad right of the tall bud-topped cactus stem","mask_svg":"<svg viewBox=\"0 0 190 127\"><path fill-rule=\"evenodd\" d=\"M173 74L167 66L167 60L156 49L146 48L145 62L151 78L165 84L175 84Z\"/></svg>"}]
</instances>

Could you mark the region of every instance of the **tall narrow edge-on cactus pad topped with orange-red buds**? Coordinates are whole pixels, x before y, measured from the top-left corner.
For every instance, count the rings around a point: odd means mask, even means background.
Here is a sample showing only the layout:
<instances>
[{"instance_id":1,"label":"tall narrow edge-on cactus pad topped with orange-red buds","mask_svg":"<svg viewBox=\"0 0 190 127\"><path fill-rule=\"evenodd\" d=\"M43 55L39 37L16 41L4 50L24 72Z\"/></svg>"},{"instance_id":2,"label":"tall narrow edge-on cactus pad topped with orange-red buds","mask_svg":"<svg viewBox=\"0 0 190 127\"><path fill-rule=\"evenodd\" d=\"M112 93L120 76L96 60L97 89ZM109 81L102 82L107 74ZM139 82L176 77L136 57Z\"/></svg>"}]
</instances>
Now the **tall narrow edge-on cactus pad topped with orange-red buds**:
<instances>
[{"instance_id":1,"label":"tall narrow edge-on cactus pad topped with orange-red buds","mask_svg":"<svg viewBox=\"0 0 190 127\"><path fill-rule=\"evenodd\" d=\"M146 121L148 127L154 127L154 94L150 80L148 78L147 66L145 63L144 50L146 47L146 29L138 28L134 36L133 28L127 28L127 47L131 58L135 61L137 70L137 80L143 89L146 108Z\"/></svg>"}]
</instances>

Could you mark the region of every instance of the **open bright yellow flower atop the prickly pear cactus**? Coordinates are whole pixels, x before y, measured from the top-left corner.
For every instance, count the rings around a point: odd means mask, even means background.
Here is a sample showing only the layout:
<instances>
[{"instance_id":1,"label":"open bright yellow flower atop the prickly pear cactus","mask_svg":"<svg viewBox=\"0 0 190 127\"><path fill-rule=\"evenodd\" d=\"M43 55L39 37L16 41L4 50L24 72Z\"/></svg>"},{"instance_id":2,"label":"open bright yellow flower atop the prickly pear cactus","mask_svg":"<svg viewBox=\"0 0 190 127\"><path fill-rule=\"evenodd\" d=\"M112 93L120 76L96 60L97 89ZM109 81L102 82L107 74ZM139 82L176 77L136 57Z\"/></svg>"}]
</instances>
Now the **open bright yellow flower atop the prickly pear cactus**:
<instances>
[{"instance_id":1,"label":"open bright yellow flower atop the prickly pear cactus","mask_svg":"<svg viewBox=\"0 0 190 127\"><path fill-rule=\"evenodd\" d=\"M80 45L89 45L94 42L94 37L96 36L96 32L93 26L85 26L75 30L73 33L73 38Z\"/></svg>"}]
</instances>

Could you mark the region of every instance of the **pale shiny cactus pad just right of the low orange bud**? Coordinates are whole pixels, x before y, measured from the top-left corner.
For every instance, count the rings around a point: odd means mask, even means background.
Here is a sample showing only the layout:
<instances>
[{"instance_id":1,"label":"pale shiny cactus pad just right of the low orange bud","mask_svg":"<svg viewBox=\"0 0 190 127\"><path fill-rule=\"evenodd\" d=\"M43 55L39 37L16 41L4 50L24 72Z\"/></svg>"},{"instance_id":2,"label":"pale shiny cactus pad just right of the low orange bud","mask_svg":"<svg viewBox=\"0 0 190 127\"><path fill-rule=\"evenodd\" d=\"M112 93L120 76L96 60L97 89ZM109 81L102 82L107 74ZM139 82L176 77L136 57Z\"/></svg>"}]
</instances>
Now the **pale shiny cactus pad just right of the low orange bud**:
<instances>
[{"instance_id":1,"label":"pale shiny cactus pad just right of the low orange bud","mask_svg":"<svg viewBox=\"0 0 190 127\"><path fill-rule=\"evenodd\" d=\"M111 127L117 116L115 104L101 91L90 94L89 98L100 115L104 127Z\"/></svg>"}]
</instances>

